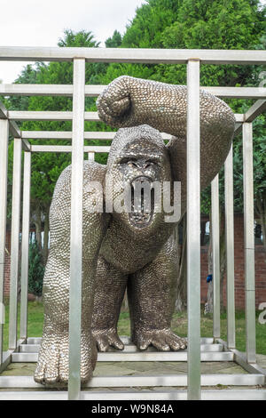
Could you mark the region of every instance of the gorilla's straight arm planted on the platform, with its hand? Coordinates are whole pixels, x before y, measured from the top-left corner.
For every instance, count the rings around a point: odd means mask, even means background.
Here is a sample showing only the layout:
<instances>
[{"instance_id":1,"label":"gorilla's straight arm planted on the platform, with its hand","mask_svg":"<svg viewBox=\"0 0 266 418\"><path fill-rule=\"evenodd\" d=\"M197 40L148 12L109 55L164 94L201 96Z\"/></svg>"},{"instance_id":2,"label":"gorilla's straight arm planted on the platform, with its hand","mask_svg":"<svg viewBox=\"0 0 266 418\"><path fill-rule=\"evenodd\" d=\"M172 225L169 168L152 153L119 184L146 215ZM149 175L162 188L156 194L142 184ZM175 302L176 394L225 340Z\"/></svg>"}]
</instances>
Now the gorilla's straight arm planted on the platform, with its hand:
<instances>
[{"instance_id":1,"label":"gorilla's straight arm planted on the platform, with its hand","mask_svg":"<svg viewBox=\"0 0 266 418\"><path fill-rule=\"evenodd\" d=\"M97 359L91 337L91 317L98 250L105 234L103 213L91 210L101 196L90 181L103 183L105 168L83 163L82 347L81 379L86 382ZM68 379L68 310L70 260L71 165L59 177L50 210L51 248L43 278L43 340L35 370L35 382L65 383Z\"/></svg>"}]
</instances>

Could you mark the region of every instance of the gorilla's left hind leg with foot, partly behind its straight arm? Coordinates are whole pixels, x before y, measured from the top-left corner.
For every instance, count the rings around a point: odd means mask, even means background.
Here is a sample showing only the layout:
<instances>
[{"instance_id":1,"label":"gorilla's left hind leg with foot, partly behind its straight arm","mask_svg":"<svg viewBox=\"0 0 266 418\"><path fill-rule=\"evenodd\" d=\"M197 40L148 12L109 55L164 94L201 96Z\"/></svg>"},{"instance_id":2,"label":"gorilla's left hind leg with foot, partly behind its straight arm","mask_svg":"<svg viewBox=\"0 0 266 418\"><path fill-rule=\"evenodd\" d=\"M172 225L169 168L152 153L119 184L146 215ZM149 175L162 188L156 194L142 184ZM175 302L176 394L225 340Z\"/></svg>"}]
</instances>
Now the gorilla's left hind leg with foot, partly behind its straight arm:
<instances>
[{"instance_id":1,"label":"gorilla's left hind leg with foot, partly behind its straight arm","mask_svg":"<svg viewBox=\"0 0 266 418\"><path fill-rule=\"evenodd\" d=\"M123 350L124 345L117 334L117 321L124 297L128 276L98 257L96 291L92 316L92 335L99 351L107 351L109 346Z\"/></svg>"}]
</instances>

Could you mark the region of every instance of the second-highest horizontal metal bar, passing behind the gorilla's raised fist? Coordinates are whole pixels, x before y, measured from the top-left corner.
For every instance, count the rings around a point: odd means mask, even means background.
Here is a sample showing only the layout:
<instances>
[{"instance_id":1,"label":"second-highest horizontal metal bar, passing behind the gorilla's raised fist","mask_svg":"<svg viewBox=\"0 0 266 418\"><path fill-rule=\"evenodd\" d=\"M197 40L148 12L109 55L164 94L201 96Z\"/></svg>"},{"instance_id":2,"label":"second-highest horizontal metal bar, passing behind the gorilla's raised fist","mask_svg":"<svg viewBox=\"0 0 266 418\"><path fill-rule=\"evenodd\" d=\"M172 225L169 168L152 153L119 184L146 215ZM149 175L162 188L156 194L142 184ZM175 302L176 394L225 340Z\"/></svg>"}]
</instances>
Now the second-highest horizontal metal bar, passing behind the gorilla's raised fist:
<instances>
[{"instance_id":1,"label":"second-highest horizontal metal bar, passing behind the gorilla's raised fist","mask_svg":"<svg viewBox=\"0 0 266 418\"><path fill-rule=\"evenodd\" d=\"M106 88L106 85L90 84L85 85L86 97L97 97ZM208 87L201 86L200 90L205 90L217 97L228 97L234 99L255 99L265 97L266 88L262 87ZM20 96L66 96L73 95L72 84L0 84L0 94L20 95Z\"/></svg>"}]
</instances>

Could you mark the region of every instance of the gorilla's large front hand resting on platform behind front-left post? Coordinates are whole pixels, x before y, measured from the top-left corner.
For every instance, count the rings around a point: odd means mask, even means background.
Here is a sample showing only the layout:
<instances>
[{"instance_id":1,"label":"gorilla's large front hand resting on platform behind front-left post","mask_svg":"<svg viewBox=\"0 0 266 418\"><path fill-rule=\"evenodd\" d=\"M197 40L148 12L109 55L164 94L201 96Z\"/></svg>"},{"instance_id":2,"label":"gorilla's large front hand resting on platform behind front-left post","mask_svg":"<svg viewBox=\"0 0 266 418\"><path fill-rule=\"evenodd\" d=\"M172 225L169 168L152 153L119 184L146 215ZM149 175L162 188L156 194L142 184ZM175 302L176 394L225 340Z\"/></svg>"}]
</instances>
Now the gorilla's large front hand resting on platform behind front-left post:
<instances>
[{"instance_id":1,"label":"gorilla's large front hand resting on platform behind front-left post","mask_svg":"<svg viewBox=\"0 0 266 418\"><path fill-rule=\"evenodd\" d=\"M92 376L96 361L96 344L89 334L82 333L82 382L88 382ZM43 335L34 378L35 382L48 386L66 386L68 381L68 334Z\"/></svg>"}]
</instances>

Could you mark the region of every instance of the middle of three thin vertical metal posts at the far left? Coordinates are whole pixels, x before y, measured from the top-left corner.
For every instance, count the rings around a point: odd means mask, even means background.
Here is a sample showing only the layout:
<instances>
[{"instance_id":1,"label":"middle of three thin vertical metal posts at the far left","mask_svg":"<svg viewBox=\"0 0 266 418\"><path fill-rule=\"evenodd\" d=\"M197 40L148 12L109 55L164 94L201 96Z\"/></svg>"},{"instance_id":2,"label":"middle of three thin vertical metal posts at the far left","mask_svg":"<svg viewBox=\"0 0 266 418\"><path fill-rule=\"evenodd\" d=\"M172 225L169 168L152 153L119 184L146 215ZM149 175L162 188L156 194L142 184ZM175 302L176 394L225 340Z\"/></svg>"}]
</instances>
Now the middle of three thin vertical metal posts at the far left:
<instances>
[{"instance_id":1,"label":"middle of three thin vertical metal posts at the far left","mask_svg":"<svg viewBox=\"0 0 266 418\"><path fill-rule=\"evenodd\" d=\"M12 242L9 298L9 349L11 350L14 350L17 347L20 253L21 146L21 139L14 138L12 176Z\"/></svg>"}]
</instances>

